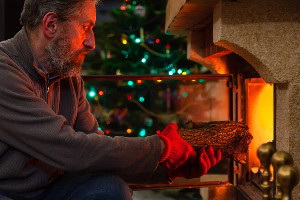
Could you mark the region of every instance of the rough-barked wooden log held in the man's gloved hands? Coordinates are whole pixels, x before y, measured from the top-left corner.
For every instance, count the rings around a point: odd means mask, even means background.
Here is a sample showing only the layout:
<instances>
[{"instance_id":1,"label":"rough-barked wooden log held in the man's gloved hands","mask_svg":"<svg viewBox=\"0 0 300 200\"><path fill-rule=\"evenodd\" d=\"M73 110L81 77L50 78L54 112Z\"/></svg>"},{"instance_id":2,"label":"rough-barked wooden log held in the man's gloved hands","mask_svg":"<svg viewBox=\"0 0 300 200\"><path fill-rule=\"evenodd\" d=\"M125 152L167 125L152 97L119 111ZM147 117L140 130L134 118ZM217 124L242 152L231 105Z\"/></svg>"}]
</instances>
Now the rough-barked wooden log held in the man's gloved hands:
<instances>
[{"instance_id":1,"label":"rough-barked wooden log held in the man's gloved hands","mask_svg":"<svg viewBox=\"0 0 300 200\"><path fill-rule=\"evenodd\" d=\"M186 122L185 129L178 134L189 143L196 152L201 147L212 146L219 149L223 158L231 158L245 164L249 144L253 136L249 127L237 121Z\"/></svg>"}]
</instances>

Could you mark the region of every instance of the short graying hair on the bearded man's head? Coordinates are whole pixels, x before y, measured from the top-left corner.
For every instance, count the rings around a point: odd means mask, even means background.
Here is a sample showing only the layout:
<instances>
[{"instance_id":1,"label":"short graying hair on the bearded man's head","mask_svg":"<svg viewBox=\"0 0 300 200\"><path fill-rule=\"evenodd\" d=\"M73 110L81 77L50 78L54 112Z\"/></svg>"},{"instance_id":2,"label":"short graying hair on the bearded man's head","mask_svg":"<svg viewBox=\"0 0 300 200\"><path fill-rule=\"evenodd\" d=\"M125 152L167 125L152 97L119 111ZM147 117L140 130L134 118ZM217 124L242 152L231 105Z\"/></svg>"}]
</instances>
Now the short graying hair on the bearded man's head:
<instances>
[{"instance_id":1,"label":"short graying hair on the bearded man's head","mask_svg":"<svg viewBox=\"0 0 300 200\"><path fill-rule=\"evenodd\" d=\"M34 30L48 12L54 12L62 22L69 22L82 13L82 6L87 0L25 0L21 13L21 25L29 30ZM91 0L96 5L101 0Z\"/></svg>"}]
</instances>

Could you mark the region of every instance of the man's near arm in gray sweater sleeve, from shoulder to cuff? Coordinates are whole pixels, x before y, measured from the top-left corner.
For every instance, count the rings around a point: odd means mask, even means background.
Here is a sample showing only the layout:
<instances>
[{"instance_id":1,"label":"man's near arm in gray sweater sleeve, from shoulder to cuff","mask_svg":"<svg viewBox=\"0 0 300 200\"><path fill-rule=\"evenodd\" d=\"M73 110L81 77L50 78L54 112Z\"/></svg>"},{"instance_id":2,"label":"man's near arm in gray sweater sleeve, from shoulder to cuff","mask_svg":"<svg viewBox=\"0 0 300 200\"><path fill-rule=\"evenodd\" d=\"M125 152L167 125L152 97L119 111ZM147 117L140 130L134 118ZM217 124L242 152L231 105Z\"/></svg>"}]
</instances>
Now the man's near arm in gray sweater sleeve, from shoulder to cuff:
<instances>
[{"instance_id":1,"label":"man's near arm in gray sweater sleeve, from shoulder to cuff","mask_svg":"<svg viewBox=\"0 0 300 200\"><path fill-rule=\"evenodd\" d=\"M66 125L38 98L27 77L0 63L1 141L65 171L154 171L161 155L157 135L125 138L85 134Z\"/></svg>"}]
</instances>

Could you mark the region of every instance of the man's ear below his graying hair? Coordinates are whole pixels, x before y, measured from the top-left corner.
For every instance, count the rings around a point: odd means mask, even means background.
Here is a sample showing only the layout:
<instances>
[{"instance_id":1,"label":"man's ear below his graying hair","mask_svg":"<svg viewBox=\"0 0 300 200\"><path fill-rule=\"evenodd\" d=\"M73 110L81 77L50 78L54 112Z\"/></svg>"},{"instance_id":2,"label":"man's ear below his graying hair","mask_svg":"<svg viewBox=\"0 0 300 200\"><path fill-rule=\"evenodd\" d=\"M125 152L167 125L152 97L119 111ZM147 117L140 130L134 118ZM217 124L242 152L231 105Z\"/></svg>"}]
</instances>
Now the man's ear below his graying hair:
<instances>
[{"instance_id":1,"label":"man's ear below his graying hair","mask_svg":"<svg viewBox=\"0 0 300 200\"><path fill-rule=\"evenodd\" d=\"M48 12L42 20L42 28L45 37L53 38L58 28L58 15L54 12Z\"/></svg>"}]
</instances>

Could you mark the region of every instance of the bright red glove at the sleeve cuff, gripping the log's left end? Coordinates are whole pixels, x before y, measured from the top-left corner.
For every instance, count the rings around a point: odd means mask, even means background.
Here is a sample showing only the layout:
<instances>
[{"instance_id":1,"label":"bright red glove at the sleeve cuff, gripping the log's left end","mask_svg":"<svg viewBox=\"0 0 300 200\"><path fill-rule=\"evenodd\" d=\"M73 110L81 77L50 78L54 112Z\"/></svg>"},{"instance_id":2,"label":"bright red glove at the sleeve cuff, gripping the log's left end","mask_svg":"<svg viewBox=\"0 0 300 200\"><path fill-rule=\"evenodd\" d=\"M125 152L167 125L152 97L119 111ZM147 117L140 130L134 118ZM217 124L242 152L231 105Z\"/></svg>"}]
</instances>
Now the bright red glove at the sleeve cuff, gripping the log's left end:
<instances>
[{"instance_id":1,"label":"bright red glove at the sleeve cuff, gripping the log's left end","mask_svg":"<svg viewBox=\"0 0 300 200\"><path fill-rule=\"evenodd\" d=\"M181 166L188 159L194 163L197 158L195 150L184 141L177 133L178 126L170 123L159 134L159 138L164 142L165 148L159 163L161 163L167 171L174 170Z\"/></svg>"}]
</instances>

